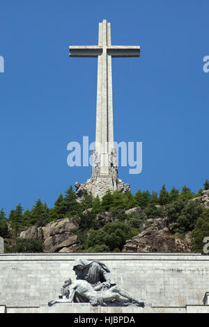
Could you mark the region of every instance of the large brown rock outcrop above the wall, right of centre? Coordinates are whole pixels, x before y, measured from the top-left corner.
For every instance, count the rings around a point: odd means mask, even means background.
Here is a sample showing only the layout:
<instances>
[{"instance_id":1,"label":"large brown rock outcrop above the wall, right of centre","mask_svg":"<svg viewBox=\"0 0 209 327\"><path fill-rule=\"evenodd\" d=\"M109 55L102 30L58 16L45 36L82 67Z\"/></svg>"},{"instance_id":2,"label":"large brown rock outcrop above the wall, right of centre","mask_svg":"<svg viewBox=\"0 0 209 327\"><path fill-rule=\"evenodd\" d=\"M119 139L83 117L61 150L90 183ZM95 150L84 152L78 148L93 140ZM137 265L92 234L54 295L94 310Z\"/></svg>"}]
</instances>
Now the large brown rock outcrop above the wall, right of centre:
<instances>
[{"instance_id":1,"label":"large brown rock outcrop above the wall, right of centre","mask_svg":"<svg viewBox=\"0 0 209 327\"><path fill-rule=\"evenodd\" d=\"M141 233L126 241L122 252L191 252L190 235L174 234L167 228L167 218L148 219Z\"/></svg>"}]
</instances>

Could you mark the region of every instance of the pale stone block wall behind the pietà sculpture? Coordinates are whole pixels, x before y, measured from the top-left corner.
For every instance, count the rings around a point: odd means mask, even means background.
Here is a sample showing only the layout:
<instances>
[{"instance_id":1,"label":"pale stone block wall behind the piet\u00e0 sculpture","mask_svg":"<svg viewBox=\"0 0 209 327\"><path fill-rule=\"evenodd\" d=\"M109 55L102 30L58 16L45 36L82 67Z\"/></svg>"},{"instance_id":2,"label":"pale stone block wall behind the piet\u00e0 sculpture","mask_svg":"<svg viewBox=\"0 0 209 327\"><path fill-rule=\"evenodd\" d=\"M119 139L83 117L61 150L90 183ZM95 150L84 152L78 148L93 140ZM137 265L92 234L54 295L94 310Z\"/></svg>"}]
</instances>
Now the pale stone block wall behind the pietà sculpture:
<instances>
[{"instance_id":1,"label":"pale stone block wall behind the piet\u00e0 sculpture","mask_svg":"<svg viewBox=\"0 0 209 327\"><path fill-rule=\"evenodd\" d=\"M111 280L153 307L203 305L209 290L209 256L151 253L1 254L0 305L39 307L58 298L75 278L75 259L100 260ZM34 310L34 309L33 309Z\"/></svg>"}]
</instances>

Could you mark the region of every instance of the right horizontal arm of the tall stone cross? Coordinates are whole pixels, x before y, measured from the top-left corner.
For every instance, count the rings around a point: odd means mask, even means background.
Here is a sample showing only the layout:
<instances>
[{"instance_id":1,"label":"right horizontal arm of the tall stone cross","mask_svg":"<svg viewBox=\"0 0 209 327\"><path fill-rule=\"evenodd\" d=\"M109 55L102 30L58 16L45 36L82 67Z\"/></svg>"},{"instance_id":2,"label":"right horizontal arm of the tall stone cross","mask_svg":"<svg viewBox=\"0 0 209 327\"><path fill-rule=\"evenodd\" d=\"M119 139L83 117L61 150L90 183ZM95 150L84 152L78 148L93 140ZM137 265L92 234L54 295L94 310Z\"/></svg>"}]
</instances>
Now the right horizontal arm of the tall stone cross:
<instances>
[{"instance_id":1,"label":"right horizontal arm of the tall stone cross","mask_svg":"<svg viewBox=\"0 0 209 327\"><path fill-rule=\"evenodd\" d=\"M107 47L107 54L109 54L113 58L139 57L140 47L111 45L111 47Z\"/></svg>"}]
</instances>

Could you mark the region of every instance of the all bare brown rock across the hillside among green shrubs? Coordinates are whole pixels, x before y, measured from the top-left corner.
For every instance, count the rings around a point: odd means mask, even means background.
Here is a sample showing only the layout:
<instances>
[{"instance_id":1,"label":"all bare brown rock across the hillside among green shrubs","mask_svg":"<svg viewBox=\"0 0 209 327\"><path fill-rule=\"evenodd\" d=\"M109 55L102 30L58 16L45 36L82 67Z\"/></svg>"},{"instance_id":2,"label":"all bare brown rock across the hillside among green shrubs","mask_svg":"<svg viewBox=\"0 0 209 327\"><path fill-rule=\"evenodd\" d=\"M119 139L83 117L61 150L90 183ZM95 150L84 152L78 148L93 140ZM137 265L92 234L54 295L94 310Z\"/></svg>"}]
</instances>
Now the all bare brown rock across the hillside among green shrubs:
<instances>
[{"instance_id":1,"label":"all bare brown rock across the hillside among green shrubs","mask_svg":"<svg viewBox=\"0 0 209 327\"><path fill-rule=\"evenodd\" d=\"M199 200L199 204L192 208L194 200ZM180 203L180 202L179 202ZM188 207L189 204L189 207ZM123 225L130 225L133 221L136 223L141 220L140 232L135 234L134 237L126 239L124 241L122 252L158 252L158 253L169 253L169 252L191 252L191 231L185 230L185 232L176 232L175 226L176 222L173 224L173 210L178 208L178 202L176 202L177 207L166 207L155 205L149 211L141 209L141 207L134 207L132 209L123 212ZM190 217L188 213L192 210L198 208L208 209L209 207L209 190L203 191L203 196L200 198L195 198L187 202L187 207L184 207L179 213L180 218L177 219L177 227L180 226L180 219L185 218L186 220ZM174 208L174 209L173 209ZM186 208L186 209L185 209ZM201 209L201 210L203 210ZM162 216L155 216L150 218L152 214L156 215L157 210L162 214ZM186 210L186 211L185 211ZM92 208L89 208L83 212L84 215L91 214ZM174 216L176 212L174 212ZM133 218L134 217L134 218ZM143 217L143 218L141 218ZM115 212L102 212L95 217L97 222L96 230L105 230L105 226L111 223L116 223L121 221L121 216L115 215ZM80 218L74 216L71 218L61 218L56 221L52 221L45 225L45 227L37 227L33 225L28 230L25 230L20 234L22 239L35 239L42 241L44 245L44 251L49 253L72 253L79 252L84 249L84 244L80 241L79 234L83 232L81 230ZM187 221L184 221L184 225ZM173 228L174 226L174 228ZM87 226L88 227L88 226ZM139 226L138 226L139 227ZM137 229L135 229L137 230ZM86 230L85 230L86 232ZM87 228L88 236L92 232L95 232L94 228ZM83 233L84 234L84 233ZM106 244L108 245L108 244ZM104 248L105 249L105 248ZM105 252L105 250L104 250Z\"/></svg>"}]
</instances>

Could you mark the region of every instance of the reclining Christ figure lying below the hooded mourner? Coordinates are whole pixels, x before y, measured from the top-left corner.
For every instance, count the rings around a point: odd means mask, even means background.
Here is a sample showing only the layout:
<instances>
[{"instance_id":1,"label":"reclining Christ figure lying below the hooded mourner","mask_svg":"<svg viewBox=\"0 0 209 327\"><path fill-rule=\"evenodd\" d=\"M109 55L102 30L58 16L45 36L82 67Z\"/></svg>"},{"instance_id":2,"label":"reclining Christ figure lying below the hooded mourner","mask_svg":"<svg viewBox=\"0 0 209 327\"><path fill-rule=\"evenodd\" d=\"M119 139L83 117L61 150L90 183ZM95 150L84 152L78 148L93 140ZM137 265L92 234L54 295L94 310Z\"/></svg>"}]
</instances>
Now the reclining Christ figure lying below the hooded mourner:
<instances>
[{"instance_id":1,"label":"reclining Christ figure lying below the hooded mourner","mask_svg":"<svg viewBox=\"0 0 209 327\"><path fill-rule=\"evenodd\" d=\"M86 302L91 303L91 305L108 305L107 303L114 303L116 301L121 304L123 303L123 305L134 303L144 307L144 302L142 300L137 300L137 298L125 291L125 289L121 289L118 286L102 289L104 285L105 282L102 282L100 285L92 287L86 280L75 280L74 282L70 279L66 280L65 287L67 288L67 292L65 292L65 296L68 300L52 300L48 305L52 306L55 303L72 303L77 294L86 298Z\"/></svg>"}]
</instances>

